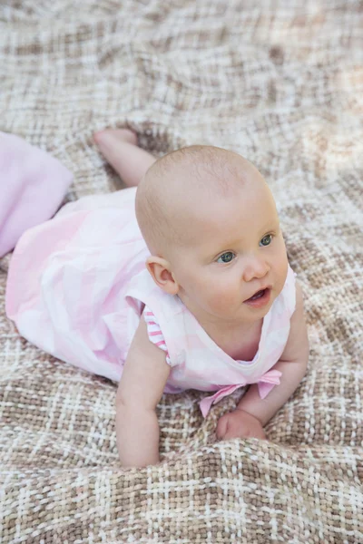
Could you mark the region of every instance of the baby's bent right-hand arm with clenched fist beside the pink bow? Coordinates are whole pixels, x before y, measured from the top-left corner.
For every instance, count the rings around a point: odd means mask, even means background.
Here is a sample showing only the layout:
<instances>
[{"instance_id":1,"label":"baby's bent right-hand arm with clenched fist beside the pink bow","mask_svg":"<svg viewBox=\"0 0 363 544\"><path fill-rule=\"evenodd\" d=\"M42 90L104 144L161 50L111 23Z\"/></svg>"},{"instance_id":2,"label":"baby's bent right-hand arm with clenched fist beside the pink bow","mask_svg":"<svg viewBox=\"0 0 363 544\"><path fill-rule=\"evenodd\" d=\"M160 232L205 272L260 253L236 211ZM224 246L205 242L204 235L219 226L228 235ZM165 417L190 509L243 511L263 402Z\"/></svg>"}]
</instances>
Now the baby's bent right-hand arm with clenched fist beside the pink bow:
<instances>
[{"instance_id":1,"label":"baby's bent right-hand arm with clenched fist beside the pink bow","mask_svg":"<svg viewBox=\"0 0 363 544\"><path fill-rule=\"evenodd\" d=\"M309 341L303 313L301 287L296 286L296 308L291 317L288 343L273 367L280 370L280 385L275 386L265 399L260 398L257 384L251 385L236 411L222 416L217 426L219 438L255 436L263 438L262 427L286 403L306 374Z\"/></svg>"}]
</instances>

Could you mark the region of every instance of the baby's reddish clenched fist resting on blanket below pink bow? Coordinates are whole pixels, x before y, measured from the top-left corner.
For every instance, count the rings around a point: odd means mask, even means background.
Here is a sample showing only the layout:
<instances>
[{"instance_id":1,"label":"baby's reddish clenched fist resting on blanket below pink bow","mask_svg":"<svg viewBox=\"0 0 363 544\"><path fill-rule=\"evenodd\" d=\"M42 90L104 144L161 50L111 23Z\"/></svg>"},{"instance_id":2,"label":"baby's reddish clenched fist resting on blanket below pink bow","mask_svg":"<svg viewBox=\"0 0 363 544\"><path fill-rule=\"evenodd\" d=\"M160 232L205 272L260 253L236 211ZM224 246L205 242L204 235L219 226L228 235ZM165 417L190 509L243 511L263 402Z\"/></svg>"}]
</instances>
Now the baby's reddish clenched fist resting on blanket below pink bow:
<instances>
[{"instance_id":1,"label":"baby's reddish clenched fist resting on blanket below pink bow","mask_svg":"<svg viewBox=\"0 0 363 544\"><path fill-rule=\"evenodd\" d=\"M266 440L266 434L260 421L243 410L233 410L221 416L216 429L219 440L231 438L260 438Z\"/></svg>"}]
</instances>

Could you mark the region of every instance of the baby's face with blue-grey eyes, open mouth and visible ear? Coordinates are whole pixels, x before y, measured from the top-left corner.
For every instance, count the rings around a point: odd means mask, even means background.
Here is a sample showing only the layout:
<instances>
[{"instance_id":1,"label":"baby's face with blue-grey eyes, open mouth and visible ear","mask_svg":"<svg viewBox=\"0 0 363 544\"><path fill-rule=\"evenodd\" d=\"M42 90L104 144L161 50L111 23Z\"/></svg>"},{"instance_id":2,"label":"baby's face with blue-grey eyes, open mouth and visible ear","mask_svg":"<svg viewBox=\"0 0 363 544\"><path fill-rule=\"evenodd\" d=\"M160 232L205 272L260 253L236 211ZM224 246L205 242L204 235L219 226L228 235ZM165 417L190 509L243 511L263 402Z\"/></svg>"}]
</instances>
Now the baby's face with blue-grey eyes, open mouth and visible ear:
<instances>
[{"instance_id":1,"label":"baby's face with blue-grey eyes, open mouth and visible ear","mask_svg":"<svg viewBox=\"0 0 363 544\"><path fill-rule=\"evenodd\" d=\"M174 248L178 295L197 319L252 323L284 286L288 259L268 186L253 180L236 195L194 199Z\"/></svg>"}]
</instances>

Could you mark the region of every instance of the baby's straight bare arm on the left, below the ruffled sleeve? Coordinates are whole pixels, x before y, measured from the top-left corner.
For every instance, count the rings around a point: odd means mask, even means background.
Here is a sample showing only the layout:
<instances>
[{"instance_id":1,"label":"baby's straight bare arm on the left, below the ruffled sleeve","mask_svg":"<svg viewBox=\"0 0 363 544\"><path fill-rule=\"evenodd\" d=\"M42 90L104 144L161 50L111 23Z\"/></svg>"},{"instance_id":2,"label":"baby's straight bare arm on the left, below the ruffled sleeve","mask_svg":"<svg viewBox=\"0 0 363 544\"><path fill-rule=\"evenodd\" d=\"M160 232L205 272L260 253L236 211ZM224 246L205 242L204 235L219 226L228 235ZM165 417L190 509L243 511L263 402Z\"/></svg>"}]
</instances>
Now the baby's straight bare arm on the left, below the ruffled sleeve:
<instances>
[{"instance_id":1,"label":"baby's straight bare arm on the left, below the ruffled sleeve","mask_svg":"<svg viewBox=\"0 0 363 544\"><path fill-rule=\"evenodd\" d=\"M116 395L116 438L123 467L159 462L155 408L170 373L165 359L165 352L150 342L142 316Z\"/></svg>"}]
</instances>

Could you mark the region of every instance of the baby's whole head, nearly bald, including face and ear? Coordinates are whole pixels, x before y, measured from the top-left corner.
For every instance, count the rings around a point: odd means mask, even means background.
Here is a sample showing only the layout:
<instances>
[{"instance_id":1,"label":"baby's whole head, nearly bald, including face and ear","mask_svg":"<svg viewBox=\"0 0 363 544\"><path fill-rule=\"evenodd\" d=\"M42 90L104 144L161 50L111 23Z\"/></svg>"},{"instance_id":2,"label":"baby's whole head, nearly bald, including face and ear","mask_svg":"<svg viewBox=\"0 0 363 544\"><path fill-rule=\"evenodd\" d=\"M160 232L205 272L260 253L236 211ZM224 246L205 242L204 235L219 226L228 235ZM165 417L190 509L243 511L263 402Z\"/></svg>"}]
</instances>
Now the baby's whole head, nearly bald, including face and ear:
<instances>
[{"instance_id":1,"label":"baby's whole head, nearly bald, including face and ear","mask_svg":"<svg viewBox=\"0 0 363 544\"><path fill-rule=\"evenodd\" d=\"M191 146L165 155L140 182L136 215L155 283L195 316L253 321L280 294L288 264L275 203L237 153Z\"/></svg>"}]
</instances>

